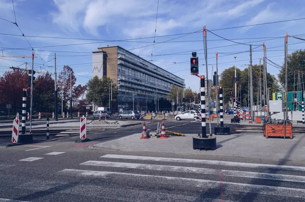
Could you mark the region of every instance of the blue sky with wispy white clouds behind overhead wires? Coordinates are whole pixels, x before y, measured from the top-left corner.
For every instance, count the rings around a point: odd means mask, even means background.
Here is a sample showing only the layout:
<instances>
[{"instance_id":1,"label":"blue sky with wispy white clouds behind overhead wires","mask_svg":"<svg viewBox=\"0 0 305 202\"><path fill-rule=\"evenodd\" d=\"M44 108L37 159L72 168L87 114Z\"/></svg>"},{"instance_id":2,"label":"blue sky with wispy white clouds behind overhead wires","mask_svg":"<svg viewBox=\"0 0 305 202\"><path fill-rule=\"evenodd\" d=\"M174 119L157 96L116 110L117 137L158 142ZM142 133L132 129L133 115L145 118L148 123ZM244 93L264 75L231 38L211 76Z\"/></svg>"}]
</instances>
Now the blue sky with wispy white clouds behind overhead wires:
<instances>
[{"instance_id":1,"label":"blue sky with wispy white clouds behind overhead wires","mask_svg":"<svg viewBox=\"0 0 305 202\"><path fill-rule=\"evenodd\" d=\"M302 0L290 1L289 3L288 1L281 0L160 0L156 43L167 40L171 41L156 44L154 50L153 46L147 46L153 44L154 38L129 40L126 42L102 41L154 37L157 3L158 0L15 0L14 6L17 24L33 47L94 43L34 48L39 54L35 58L35 69L39 71L54 72L54 60L52 59L54 53L56 53L57 72L63 68L63 65L70 65L77 75L77 82L85 84L92 77L92 54L90 52L97 50L99 46L119 45L128 50L133 49L131 52L147 60L153 60L151 62L184 78L186 85L196 91L199 90L199 80L190 75L189 61L192 51L198 50L199 63L205 63L203 50L201 50L203 49L202 32L193 33L188 36L158 36L194 32L201 30L204 25L208 30L214 30L305 17L305 2ZM11 0L0 0L0 18L15 22ZM265 43L267 57L273 62L282 65L284 60L284 38L274 39L273 37L285 37L286 32L288 32L288 35L300 35L301 38L305 38L304 24L305 20L298 20L215 30L213 32L239 43L253 42L253 48L257 47L256 45ZM15 24L0 19L0 27L0 50L3 50L3 54L31 55L31 48L18 50L18 48L29 48L29 44L24 37L20 37L21 32ZM8 36L4 35L4 33L19 36ZM50 39L29 36L78 39ZM180 38L174 39L177 37ZM95 39L95 41L84 39ZM249 52L231 54L248 51L249 46L236 45L229 41L214 41L220 39L212 35L212 33L207 32L208 64L210 64L208 65L209 79L212 74L211 64L214 64L214 71L216 70L216 52L219 53L218 69L220 73L234 65L235 55L237 56L236 66L238 68L245 69L249 64ZM304 49L305 43L301 42L303 41L289 38L289 53L297 49ZM263 57L262 50L262 46L253 50L253 64L258 64L259 58ZM150 56L152 51L153 57ZM172 54L177 52L182 53ZM2 51L0 51L0 54L2 54ZM32 59L0 57L0 74L9 70L9 66L18 66L24 62L32 63ZM20 67L24 68L24 65L22 64ZM276 76L279 73L279 69L268 64L267 70L270 74ZM199 73L206 75L205 66L200 66Z\"/></svg>"}]
</instances>

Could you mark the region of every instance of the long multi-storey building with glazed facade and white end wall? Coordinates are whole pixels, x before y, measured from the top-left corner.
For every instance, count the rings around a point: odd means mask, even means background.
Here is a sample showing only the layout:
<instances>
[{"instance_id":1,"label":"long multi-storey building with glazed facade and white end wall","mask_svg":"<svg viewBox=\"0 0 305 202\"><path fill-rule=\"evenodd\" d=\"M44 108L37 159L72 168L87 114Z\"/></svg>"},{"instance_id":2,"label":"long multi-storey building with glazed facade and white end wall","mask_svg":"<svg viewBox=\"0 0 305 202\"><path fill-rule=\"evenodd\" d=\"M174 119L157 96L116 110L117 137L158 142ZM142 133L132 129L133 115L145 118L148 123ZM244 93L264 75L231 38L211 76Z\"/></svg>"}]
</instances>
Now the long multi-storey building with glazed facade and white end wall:
<instances>
[{"instance_id":1,"label":"long multi-storey building with glazed facade and white end wall","mask_svg":"<svg viewBox=\"0 0 305 202\"><path fill-rule=\"evenodd\" d=\"M118 93L113 108L117 110L147 109L147 103L166 99L172 84L184 87L183 79L120 46L93 51L93 76L113 79Z\"/></svg>"}]
</instances>

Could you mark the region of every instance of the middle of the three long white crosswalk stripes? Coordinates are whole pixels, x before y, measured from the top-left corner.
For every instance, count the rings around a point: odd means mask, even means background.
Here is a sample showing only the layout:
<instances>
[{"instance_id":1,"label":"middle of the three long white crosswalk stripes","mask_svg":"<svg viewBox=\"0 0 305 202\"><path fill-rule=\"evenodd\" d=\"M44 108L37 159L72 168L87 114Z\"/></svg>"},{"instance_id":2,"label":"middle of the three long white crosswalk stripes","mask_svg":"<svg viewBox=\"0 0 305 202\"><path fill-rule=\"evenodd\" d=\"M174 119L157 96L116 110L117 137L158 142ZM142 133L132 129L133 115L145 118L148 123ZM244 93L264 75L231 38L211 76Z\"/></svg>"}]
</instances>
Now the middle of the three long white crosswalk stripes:
<instances>
[{"instance_id":1,"label":"middle of the three long white crosswalk stripes","mask_svg":"<svg viewBox=\"0 0 305 202\"><path fill-rule=\"evenodd\" d=\"M197 174L199 173L199 174L209 174L209 175L223 174L225 176L242 177L242 178L259 178L259 179L267 179L267 180L305 182L305 176L291 176L291 175L255 173L255 172L246 172L246 171L203 169L200 167L151 165L151 164L140 164L140 163L109 162L109 161L94 161L94 160L89 160L89 161L80 163L80 165L124 167L124 168L128 168L128 169L172 171L172 172L185 172L185 173L197 173Z\"/></svg>"}]
</instances>

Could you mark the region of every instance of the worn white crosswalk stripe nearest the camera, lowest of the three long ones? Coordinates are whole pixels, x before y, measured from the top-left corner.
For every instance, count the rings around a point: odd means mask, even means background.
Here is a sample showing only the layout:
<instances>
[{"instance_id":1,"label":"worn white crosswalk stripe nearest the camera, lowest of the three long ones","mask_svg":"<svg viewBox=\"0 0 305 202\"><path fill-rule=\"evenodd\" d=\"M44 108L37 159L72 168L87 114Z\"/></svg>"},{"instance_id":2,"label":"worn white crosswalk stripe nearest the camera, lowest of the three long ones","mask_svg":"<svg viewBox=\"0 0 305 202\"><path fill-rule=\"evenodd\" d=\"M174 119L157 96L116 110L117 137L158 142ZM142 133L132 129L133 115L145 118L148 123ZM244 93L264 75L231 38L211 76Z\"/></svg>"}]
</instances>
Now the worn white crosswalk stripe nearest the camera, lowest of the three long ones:
<instances>
[{"instance_id":1,"label":"worn white crosswalk stripe nearest the camera, lowest of the three long ones","mask_svg":"<svg viewBox=\"0 0 305 202\"><path fill-rule=\"evenodd\" d=\"M192 186L200 187L200 188L208 188L208 189L218 189L219 188L219 181L212 181L212 180L203 180L203 179L192 179L192 178L178 178L178 177L167 177L167 176L156 176L156 175L142 175L142 174L132 174L132 173L116 173L116 172L104 172L104 171L86 171L86 170L74 170L74 169L65 169L58 172L62 175L67 176L80 176L80 177L112 177L115 175L119 175L122 177L128 177L124 179L124 182L128 180L134 180L134 178L130 178L129 176L134 177L144 177L144 178L151 178L151 180L155 180L156 178L159 179L167 179L173 180L168 182L168 184L179 182L190 182L193 183ZM150 180L150 179L148 179ZM283 195L288 197L305 197L305 189L297 189L297 188L287 188L287 187L273 187L273 186L266 186L266 185L255 185L255 184L242 184L242 183L235 183L235 182L222 182L222 184L226 187L226 190L230 191L242 191L242 192L252 192L252 193L259 193L259 194L271 194L271 195Z\"/></svg>"}]
</instances>

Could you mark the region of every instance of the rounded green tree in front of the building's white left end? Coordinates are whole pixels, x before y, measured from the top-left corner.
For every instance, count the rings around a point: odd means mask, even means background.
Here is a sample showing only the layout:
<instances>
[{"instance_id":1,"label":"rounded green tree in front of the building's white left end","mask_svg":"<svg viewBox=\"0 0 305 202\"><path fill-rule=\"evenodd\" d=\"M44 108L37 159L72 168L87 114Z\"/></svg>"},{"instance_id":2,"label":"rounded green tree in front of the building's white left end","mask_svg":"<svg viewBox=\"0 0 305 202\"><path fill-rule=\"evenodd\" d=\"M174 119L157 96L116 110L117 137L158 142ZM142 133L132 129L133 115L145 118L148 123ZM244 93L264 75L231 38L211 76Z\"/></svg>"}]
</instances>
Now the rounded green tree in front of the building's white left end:
<instances>
[{"instance_id":1,"label":"rounded green tree in front of the building's white left end","mask_svg":"<svg viewBox=\"0 0 305 202\"><path fill-rule=\"evenodd\" d=\"M117 88L116 84L110 77L104 76L99 79L98 76L93 77L87 83L86 98L88 102L96 106L108 107L109 105L109 86L112 82L112 104L117 102Z\"/></svg>"}]
</instances>

